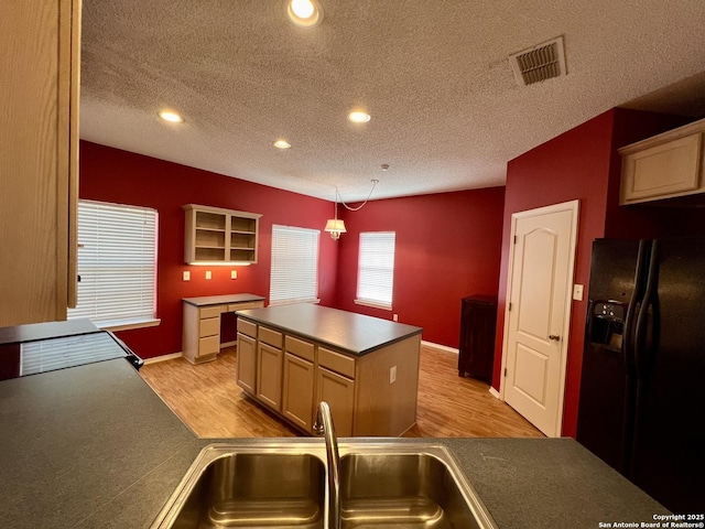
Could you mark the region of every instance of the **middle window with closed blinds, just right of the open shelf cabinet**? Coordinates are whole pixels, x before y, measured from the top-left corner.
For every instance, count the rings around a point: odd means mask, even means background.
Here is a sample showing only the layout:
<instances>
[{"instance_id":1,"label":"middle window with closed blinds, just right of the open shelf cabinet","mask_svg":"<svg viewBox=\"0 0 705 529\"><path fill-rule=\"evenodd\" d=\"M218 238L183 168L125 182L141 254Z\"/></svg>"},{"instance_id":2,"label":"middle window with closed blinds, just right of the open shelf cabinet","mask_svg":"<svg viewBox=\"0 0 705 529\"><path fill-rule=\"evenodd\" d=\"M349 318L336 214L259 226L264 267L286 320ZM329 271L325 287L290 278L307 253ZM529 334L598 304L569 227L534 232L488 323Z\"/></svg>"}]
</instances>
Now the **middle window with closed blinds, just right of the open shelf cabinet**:
<instances>
[{"instance_id":1,"label":"middle window with closed blinds, just right of the open shelf cabinet","mask_svg":"<svg viewBox=\"0 0 705 529\"><path fill-rule=\"evenodd\" d=\"M272 226L270 305L317 302L318 229Z\"/></svg>"}]
</instances>

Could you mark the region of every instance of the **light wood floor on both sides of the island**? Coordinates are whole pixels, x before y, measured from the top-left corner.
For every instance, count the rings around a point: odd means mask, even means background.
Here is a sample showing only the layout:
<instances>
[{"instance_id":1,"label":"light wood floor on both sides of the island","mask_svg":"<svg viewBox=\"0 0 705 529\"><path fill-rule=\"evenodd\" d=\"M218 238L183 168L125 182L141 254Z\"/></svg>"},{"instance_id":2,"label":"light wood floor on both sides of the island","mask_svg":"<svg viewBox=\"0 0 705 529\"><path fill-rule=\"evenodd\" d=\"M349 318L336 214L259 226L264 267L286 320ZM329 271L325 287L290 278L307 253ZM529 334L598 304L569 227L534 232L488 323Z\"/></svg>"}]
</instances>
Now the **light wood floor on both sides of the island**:
<instances>
[{"instance_id":1,"label":"light wood floor on both sides of the island","mask_svg":"<svg viewBox=\"0 0 705 529\"><path fill-rule=\"evenodd\" d=\"M199 438L288 438L300 435L247 398L235 382L237 353L193 366L183 358L148 364L140 374ZM540 438L543 434L487 384L458 377L457 356L421 347L416 425L408 438Z\"/></svg>"}]
</instances>

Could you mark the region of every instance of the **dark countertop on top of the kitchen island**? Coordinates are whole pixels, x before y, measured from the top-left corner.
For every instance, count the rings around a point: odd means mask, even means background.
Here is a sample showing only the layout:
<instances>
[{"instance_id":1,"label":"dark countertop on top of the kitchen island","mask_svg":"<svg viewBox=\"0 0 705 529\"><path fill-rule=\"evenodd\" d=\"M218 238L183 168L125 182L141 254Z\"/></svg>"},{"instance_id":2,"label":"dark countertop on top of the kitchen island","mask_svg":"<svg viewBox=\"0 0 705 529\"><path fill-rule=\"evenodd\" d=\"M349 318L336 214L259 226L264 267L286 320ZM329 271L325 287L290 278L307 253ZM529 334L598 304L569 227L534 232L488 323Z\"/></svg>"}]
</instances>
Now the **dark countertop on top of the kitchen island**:
<instances>
[{"instance_id":1,"label":"dark countertop on top of the kitchen island","mask_svg":"<svg viewBox=\"0 0 705 529\"><path fill-rule=\"evenodd\" d=\"M361 356L421 334L423 328L313 303L238 311L238 316Z\"/></svg>"}]
</instances>

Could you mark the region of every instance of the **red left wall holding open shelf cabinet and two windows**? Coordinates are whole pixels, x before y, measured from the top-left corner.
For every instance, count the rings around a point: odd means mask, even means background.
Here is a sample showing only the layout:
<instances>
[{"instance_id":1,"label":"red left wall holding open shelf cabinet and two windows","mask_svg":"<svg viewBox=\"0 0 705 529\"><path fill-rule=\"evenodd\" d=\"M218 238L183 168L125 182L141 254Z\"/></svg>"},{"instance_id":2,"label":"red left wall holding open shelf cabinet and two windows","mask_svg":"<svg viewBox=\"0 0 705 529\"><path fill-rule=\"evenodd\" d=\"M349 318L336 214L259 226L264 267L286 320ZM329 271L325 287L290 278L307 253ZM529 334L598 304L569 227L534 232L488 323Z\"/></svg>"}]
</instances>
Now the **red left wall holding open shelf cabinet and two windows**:
<instances>
[{"instance_id":1,"label":"red left wall holding open shelf cabinet and two windows","mask_svg":"<svg viewBox=\"0 0 705 529\"><path fill-rule=\"evenodd\" d=\"M156 278L156 327L119 332L140 356L182 350L182 298L250 292L269 296L272 224L322 228L330 215L330 203L308 196L253 184L229 176L187 168L90 142L80 143L79 197L148 206L159 212ZM258 263L232 267L191 267L184 263L184 204L204 204L260 213ZM319 298L330 304L336 284L337 247L322 234ZM182 281L191 270L192 280ZM205 271L213 279L205 279ZM224 341L234 339L226 325ZM226 324L228 320L226 319Z\"/></svg>"}]
</instances>

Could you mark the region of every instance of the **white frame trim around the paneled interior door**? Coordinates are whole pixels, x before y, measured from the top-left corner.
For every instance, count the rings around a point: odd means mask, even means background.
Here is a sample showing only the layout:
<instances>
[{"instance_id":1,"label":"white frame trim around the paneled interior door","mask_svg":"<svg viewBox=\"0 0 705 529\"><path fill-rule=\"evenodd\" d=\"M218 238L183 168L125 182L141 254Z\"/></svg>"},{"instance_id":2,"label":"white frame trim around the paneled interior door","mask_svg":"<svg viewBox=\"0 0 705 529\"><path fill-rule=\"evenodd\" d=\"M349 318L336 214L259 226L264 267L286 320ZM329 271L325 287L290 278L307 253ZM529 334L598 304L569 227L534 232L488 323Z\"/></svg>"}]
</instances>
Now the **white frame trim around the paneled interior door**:
<instances>
[{"instance_id":1,"label":"white frame trim around the paneled interior door","mask_svg":"<svg viewBox=\"0 0 705 529\"><path fill-rule=\"evenodd\" d=\"M525 217L534 217L541 215L547 215L553 213L560 213L570 210L572 212L572 220L571 220L571 248L570 248L570 259L568 259L568 273L567 273L567 295L565 299L565 321L563 322L563 330L561 331L561 335L564 336L564 339L561 341L561 380L560 380L560 395L558 395L558 417L556 418L556 428L553 432L552 438L561 436L563 432L563 407L565 403L565 377L567 373L567 357L568 357L568 342L571 336L571 316L573 309L573 285L575 280L575 253L577 250L577 225L579 219L579 199L563 202L560 204L552 204L550 206L538 207L535 209L527 209L524 212L512 213L511 215L511 233L509 235L509 266L507 267L507 291L506 291L506 303L505 303L505 325L503 325L503 335L502 335L502 365L500 371L500 381L499 381L499 398L505 401L505 369L507 368L507 350L508 350L508 339L509 339L509 301L508 299L511 295L512 291L512 272L514 264L514 247L516 245L512 242L517 235L517 222L521 218Z\"/></svg>"}]
</instances>

